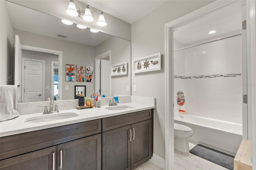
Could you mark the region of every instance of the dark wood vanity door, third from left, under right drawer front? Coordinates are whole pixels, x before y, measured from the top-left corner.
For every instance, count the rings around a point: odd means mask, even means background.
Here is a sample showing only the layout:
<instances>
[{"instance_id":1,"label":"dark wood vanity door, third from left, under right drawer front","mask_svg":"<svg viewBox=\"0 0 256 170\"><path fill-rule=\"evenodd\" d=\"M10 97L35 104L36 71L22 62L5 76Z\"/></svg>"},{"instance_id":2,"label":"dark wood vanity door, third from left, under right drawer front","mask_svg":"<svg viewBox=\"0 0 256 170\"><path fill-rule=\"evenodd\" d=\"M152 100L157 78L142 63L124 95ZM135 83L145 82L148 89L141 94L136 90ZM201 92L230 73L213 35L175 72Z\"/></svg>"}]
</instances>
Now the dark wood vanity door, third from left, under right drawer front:
<instances>
[{"instance_id":1,"label":"dark wood vanity door, third from left, under right drawer front","mask_svg":"<svg viewBox=\"0 0 256 170\"><path fill-rule=\"evenodd\" d=\"M131 169L131 126L102 133L102 170Z\"/></svg>"}]
</instances>

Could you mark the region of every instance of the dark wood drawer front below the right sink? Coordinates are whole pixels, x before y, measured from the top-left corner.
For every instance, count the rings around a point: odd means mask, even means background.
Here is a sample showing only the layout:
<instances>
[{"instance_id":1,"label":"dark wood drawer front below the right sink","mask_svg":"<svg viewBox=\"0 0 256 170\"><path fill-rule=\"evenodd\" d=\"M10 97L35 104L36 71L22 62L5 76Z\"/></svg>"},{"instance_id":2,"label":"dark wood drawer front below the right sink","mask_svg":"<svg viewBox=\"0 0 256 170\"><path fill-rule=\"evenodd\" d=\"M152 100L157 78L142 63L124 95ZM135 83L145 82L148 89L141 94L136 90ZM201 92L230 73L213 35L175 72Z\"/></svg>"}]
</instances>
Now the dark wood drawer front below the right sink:
<instances>
[{"instance_id":1,"label":"dark wood drawer front below the right sink","mask_svg":"<svg viewBox=\"0 0 256 170\"><path fill-rule=\"evenodd\" d=\"M106 117L102 119L102 131L116 129L118 127L131 125L133 123L138 123L140 121L144 121L148 119L152 119L151 109L137 111L134 113L128 113L124 115L113 116L113 117Z\"/></svg>"}]
</instances>

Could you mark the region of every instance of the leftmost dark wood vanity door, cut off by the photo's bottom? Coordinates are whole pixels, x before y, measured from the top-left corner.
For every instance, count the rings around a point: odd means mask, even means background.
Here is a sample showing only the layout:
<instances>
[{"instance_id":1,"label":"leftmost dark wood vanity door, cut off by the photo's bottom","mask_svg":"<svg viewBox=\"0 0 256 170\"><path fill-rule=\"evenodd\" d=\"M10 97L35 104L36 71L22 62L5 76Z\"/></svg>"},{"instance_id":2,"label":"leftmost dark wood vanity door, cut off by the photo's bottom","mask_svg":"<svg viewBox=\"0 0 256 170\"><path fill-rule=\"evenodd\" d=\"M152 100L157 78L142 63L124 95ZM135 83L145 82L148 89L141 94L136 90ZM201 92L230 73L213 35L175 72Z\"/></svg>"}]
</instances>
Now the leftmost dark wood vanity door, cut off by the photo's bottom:
<instances>
[{"instance_id":1,"label":"leftmost dark wood vanity door, cut off by the photo's bottom","mask_svg":"<svg viewBox=\"0 0 256 170\"><path fill-rule=\"evenodd\" d=\"M41 149L0 161L1 170L56 170L57 147Z\"/></svg>"}]
</instances>

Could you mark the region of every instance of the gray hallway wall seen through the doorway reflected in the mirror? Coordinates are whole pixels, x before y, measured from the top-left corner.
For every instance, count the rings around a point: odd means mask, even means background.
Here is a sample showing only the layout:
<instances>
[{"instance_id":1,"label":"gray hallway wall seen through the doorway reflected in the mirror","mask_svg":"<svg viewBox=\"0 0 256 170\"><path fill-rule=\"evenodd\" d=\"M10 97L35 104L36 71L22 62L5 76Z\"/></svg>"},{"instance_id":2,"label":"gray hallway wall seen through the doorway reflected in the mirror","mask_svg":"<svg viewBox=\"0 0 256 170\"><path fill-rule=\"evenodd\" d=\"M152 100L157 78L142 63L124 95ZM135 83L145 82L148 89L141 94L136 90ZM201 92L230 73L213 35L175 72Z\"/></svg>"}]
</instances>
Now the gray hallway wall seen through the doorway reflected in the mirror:
<instances>
[{"instance_id":1,"label":"gray hallway wall seen through the doorway reflected in the mirror","mask_svg":"<svg viewBox=\"0 0 256 170\"><path fill-rule=\"evenodd\" d=\"M51 98L51 76L52 76L52 61L58 62L58 55L51 54L51 53L43 53L38 51L31 51L31 50L24 50L22 49L22 58L26 59L37 59L37 60L44 60L45 61L45 82L44 82L44 101L47 101L48 98ZM49 90L46 90L46 86L49 86Z\"/></svg>"}]
</instances>

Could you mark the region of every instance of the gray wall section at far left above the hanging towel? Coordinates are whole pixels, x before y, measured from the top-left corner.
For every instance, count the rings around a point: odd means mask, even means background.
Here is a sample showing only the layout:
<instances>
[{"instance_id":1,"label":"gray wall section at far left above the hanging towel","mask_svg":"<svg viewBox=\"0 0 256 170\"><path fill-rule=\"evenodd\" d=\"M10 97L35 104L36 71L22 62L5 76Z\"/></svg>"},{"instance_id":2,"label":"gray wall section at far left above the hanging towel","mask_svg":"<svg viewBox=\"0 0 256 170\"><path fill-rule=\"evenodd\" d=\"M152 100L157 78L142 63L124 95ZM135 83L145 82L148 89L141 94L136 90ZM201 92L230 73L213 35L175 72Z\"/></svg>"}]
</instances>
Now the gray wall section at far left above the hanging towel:
<instances>
[{"instance_id":1,"label":"gray wall section at far left above the hanging towel","mask_svg":"<svg viewBox=\"0 0 256 170\"><path fill-rule=\"evenodd\" d=\"M12 84L13 26L3 0L0 0L0 84ZM13 82L14 83L14 82Z\"/></svg>"}]
</instances>

